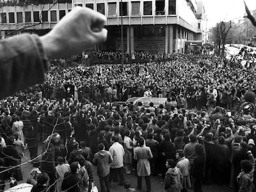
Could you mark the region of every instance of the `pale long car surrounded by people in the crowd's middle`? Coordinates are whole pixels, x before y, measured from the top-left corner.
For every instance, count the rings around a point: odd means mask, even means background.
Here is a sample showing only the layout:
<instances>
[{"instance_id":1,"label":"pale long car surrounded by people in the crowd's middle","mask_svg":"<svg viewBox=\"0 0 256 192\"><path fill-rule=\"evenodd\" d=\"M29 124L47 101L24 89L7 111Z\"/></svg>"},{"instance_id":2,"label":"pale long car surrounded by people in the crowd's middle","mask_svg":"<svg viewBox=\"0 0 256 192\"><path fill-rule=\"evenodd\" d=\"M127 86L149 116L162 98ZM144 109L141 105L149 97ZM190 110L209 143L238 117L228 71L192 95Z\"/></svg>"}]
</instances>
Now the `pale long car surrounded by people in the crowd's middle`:
<instances>
[{"instance_id":1,"label":"pale long car surrounded by people in the crowd's middle","mask_svg":"<svg viewBox=\"0 0 256 192\"><path fill-rule=\"evenodd\" d=\"M130 98L126 101L126 104L134 104L134 106L138 106L138 102L142 102L144 107L149 107L150 102L153 102L154 107L159 107L160 104L163 104L167 101L167 98L147 98L147 97L135 97Z\"/></svg>"}]
</instances>

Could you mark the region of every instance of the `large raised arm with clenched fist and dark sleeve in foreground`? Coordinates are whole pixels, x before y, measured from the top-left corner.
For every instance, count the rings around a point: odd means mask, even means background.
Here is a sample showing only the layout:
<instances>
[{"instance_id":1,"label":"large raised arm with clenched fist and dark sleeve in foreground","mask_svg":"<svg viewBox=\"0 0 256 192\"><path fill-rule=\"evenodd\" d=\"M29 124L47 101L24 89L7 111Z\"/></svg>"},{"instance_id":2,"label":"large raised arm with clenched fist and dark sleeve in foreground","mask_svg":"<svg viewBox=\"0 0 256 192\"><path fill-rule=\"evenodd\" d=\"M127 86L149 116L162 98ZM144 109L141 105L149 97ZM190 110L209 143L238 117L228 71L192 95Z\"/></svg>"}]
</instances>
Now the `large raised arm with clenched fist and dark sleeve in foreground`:
<instances>
[{"instance_id":1,"label":"large raised arm with clenched fist and dark sleeve in foreground","mask_svg":"<svg viewBox=\"0 0 256 192\"><path fill-rule=\"evenodd\" d=\"M79 54L106 40L106 18L92 9L75 7L44 36L23 34L0 42L0 99L43 83L48 59Z\"/></svg>"}]
</instances>

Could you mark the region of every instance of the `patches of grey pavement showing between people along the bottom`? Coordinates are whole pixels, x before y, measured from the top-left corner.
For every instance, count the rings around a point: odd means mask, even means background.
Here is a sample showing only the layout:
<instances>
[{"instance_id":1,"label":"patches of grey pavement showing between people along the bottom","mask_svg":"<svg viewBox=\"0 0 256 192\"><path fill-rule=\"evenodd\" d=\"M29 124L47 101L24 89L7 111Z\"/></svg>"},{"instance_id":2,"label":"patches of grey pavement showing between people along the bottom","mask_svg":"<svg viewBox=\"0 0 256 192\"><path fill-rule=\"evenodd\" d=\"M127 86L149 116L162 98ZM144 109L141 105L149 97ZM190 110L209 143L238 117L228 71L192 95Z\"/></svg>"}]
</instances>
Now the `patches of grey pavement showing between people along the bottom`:
<instances>
[{"instance_id":1,"label":"patches of grey pavement showing between people along the bottom","mask_svg":"<svg viewBox=\"0 0 256 192\"><path fill-rule=\"evenodd\" d=\"M41 147L40 147L41 151ZM22 159L22 162L27 161L27 158L29 157L29 152L25 151L25 157ZM27 182L28 175L30 173L30 170L32 170L32 164L28 163L26 165L22 166L22 175L23 175L23 181L20 181L19 183L25 183ZM95 177L95 185L98 186L98 189L100 191L100 183L98 179L98 175L96 173L96 167L93 167L93 174ZM132 183L132 188L135 188L137 186L137 178L134 175L134 172L130 175L124 174L124 178L130 180ZM151 191L152 192L164 192L164 180L160 176L151 177ZM7 181L6 181L7 183ZM6 189L9 188L9 185L6 185ZM124 191L124 188L122 186L117 185L116 182L111 183L111 192L121 192ZM145 186L145 180L142 181L142 192L146 191ZM193 190L190 189L189 192L192 192ZM231 192L231 188L226 186L220 186L220 185L204 185L203 191L207 192Z\"/></svg>"}]
</instances>

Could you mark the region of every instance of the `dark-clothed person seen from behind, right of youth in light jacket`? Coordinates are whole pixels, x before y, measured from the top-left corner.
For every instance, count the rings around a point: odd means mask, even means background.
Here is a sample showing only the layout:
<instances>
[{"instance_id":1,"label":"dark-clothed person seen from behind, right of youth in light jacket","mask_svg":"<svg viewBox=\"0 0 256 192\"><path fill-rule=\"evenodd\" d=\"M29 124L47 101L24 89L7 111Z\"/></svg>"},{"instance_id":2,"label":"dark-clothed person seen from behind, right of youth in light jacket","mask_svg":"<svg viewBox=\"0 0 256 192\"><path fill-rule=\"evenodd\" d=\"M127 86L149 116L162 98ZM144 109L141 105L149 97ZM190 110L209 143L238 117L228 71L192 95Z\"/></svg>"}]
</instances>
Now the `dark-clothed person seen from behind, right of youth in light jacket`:
<instances>
[{"instance_id":1,"label":"dark-clothed person seen from behind, right of youth in light jacket","mask_svg":"<svg viewBox=\"0 0 256 192\"><path fill-rule=\"evenodd\" d=\"M194 166L191 172L192 178L194 178L194 192L202 192L203 178L205 178L205 150L202 144L195 146Z\"/></svg>"}]
</instances>

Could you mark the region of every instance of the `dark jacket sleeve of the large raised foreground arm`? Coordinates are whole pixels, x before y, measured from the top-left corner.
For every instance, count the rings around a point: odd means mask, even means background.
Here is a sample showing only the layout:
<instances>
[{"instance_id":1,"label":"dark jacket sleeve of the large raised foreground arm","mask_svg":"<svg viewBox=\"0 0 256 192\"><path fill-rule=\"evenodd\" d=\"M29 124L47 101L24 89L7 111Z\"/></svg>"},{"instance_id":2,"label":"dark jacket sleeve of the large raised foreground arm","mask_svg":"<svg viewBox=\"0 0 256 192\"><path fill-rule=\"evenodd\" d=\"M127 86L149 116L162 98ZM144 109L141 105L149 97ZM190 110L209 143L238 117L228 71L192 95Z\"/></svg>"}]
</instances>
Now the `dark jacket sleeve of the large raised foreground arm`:
<instances>
[{"instance_id":1,"label":"dark jacket sleeve of the large raised foreground arm","mask_svg":"<svg viewBox=\"0 0 256 192\"><path fill-rule=\"evenodd\" d=\"M0 99L43 83L48 63L39 36L23 34L0 41Z\"/></svg>"}]
</instances>

